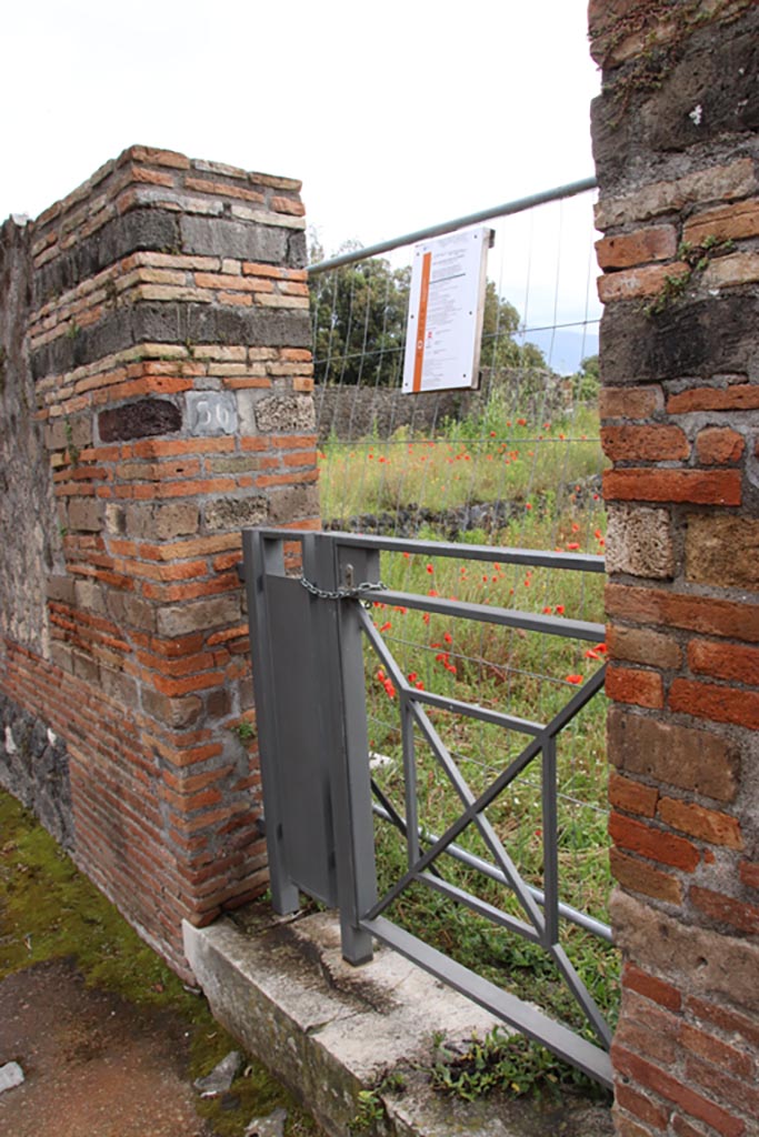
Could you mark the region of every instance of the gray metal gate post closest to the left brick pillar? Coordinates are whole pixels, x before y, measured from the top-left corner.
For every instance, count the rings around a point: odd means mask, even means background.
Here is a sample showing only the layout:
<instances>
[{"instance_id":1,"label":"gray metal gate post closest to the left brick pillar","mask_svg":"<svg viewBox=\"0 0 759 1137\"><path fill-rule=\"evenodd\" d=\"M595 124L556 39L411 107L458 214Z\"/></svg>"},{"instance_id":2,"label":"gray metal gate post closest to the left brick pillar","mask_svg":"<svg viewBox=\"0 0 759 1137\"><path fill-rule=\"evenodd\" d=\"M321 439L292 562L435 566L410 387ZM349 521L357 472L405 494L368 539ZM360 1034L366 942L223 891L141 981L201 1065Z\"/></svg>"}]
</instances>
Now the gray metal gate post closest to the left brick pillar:
<instances>
[{"instance_id":1,"label":"gray metal gate post closest to the left brick pillar","mask_svg":"<svg viewBox=\"0 0 759 1137\"><path fill-rule=\"evenodd\" d=\"M282 788L274 764L274 755L278 754L279 747L272 689L271 633L266 620L265 597L266 574L284 575L282 541L266 538L255 529L244 529L242 557L250 628L250 657L256 682L256 729L258 732L261 779L266 796L266 853L272 907L275 912L284 915L287 912L296 912L300 906L300 901L298 888L287 870L283 846L280 800Z\"/></svg>"}]
</instances>

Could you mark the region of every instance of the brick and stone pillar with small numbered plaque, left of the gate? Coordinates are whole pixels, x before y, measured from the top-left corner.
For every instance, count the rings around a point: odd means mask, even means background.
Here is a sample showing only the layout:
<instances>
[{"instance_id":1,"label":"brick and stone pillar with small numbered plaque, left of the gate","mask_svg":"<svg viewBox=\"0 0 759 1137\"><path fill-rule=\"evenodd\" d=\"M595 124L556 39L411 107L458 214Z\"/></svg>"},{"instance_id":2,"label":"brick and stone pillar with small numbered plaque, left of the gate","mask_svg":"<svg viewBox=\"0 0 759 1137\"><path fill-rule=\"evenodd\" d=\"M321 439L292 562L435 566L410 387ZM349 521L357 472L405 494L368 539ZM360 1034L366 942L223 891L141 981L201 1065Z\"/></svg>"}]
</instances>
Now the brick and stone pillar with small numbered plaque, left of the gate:
<instances>
[{"instance_id":1,"label":"brick and stone pillar with small numbered plaque, left of the gate","mask_svg":"<svg viewBox=\"0 0 759 1137\"><path fill-rule=\"evenodd\" d=\"M0 688L66 744L77 861L180 969L181 918L265 882L236 564L242 525L317 524L298 190L133 147L23 235L63 555Z\"/></svg>"}]
</instances>

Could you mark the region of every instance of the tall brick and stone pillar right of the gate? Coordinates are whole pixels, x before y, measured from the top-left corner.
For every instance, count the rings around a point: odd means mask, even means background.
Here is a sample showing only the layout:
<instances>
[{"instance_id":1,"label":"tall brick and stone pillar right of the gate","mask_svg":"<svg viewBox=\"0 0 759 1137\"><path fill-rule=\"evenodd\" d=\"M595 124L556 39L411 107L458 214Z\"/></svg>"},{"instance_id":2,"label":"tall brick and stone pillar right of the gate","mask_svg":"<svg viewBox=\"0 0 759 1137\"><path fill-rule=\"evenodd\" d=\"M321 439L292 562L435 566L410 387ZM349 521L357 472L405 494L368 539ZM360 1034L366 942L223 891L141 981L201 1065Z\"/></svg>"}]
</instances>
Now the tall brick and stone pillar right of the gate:
<instances>
[{"instance_id":1,"label":"tall brick and stone pillar right of the gate","mask_svg":"<svg viewBox=\"0 0 759 1137\"><path fill-rule=\"evenodd\" d=\"M624 1137L759 1134L759 8L591 3Z\"/></svg>"}]
</instances>

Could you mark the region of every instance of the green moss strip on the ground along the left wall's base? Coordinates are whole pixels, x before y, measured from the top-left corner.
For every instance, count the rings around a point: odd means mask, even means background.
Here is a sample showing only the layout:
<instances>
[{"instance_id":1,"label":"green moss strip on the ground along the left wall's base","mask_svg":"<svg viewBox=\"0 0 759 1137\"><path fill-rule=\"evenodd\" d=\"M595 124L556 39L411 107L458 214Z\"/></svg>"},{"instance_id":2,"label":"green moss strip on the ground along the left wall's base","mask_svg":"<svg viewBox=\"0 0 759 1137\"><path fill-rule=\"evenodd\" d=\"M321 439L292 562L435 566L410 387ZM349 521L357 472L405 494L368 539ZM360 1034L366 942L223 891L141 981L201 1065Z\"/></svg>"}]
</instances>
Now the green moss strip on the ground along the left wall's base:
<instances>
[{"instance_id":1,"label":"green moss strip on the ground along the left wall's base","mask_svg":"<svg viewBox=\"0 0 759 1137\"><path fill-rule=\"evenodd\" d=\"M60 958L74 960L89 986L181 1015L190 1032L188 1079L239 1049L205 998L184 988L35 819L0 791L0 981ZM251 1118L279 1105L288 1113L287 1137L320 1131L265 1067L247 1059L229 1094L198 1098L197 1111L217 1137L240 1137Z\"/></svg>"}]
</instances>

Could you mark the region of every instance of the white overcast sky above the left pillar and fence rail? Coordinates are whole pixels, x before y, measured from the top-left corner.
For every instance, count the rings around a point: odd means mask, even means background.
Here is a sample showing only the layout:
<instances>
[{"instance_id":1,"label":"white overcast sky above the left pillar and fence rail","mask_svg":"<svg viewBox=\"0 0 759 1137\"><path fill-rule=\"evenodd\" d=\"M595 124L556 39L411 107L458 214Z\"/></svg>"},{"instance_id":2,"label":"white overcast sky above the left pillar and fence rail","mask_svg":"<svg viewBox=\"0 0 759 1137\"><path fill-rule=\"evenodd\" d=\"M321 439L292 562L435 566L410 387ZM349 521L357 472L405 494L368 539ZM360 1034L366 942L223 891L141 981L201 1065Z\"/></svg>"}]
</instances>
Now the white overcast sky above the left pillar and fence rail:
<instances>
[{"instance_id":1,"label":"white overcast sky above the left pillar and fence rail","mask_svg":"<svg viewBox=\"0 0 759 1137\"><path fill-rule=\"evenodd\" d=\"M27 0L0 219L132 143L300 177L327 252L593 173L586 0Z\"/></svg>"}]
</instances>

